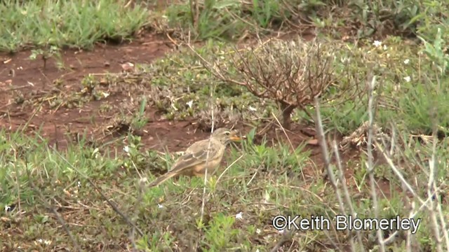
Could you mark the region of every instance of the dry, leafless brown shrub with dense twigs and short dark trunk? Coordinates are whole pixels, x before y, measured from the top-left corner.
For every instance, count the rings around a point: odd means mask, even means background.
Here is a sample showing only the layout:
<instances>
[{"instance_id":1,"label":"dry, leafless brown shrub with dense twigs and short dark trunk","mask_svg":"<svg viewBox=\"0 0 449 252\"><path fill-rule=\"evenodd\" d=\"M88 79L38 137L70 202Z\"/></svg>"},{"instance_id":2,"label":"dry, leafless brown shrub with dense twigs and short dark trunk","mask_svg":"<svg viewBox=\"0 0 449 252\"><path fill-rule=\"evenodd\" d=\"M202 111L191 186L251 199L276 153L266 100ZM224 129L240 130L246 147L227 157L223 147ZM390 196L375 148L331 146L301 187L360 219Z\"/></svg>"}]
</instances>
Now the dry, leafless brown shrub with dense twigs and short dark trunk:
<instances>
[{"instance_id":1,"label":"dry, leafless brown shrub with dense twigs and short dark trunk","mask_svg":"<svg viewBox=\"0 0 449 252\"><path fill-rule=\"evenodd\" d=\"M282 110L283 127L290 129L296 108L312 105L333 83L333 48L318 40L272 40L236 53L241 83L255 96L274 99Z\"/></svg>"}]
</instances>

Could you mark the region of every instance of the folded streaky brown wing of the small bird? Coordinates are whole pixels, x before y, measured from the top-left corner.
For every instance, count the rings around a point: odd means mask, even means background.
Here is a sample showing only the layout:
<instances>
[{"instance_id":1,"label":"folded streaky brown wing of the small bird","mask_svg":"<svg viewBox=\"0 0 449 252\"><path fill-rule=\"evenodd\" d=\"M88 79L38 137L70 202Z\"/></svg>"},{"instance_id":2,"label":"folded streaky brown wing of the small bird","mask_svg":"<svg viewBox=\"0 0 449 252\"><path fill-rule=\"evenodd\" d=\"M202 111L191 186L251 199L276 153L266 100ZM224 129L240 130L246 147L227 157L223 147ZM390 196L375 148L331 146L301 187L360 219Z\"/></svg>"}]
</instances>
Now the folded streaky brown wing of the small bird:
<instances>
[{"instance_id":1,"label":"folded streaky brown wing of the small bird","mask_svg":"<svg viewBox=\"0 0 449 252\"><path fill-rule=\"evenodd\" d=\"M199 141L195 144L192 144L192 146L187 149L186 154L182 155L176 161L170 172L182 172L189 167L200 165L201 163L205 162L207 158L209 158L209 160L212 160L219 151L219 148L217 148L214 141L210 143L209 151L207 151L208 147L209 140Z\"/></svg>"}]
</instances>

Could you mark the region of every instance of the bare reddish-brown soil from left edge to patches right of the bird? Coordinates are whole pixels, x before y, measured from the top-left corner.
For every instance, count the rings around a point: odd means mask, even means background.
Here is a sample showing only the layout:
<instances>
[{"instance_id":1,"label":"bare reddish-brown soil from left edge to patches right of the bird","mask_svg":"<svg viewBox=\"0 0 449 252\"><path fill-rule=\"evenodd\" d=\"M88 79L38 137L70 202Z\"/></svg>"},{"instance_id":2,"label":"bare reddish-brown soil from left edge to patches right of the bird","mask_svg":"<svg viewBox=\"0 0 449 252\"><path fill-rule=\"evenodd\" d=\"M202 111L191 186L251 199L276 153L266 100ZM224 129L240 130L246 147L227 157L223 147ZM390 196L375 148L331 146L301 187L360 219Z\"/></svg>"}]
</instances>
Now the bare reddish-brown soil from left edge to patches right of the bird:
<instances>
[{"instance_id":1,"label":"bare reddish-brown soil from left edge to patches right of the bird","mask_svg":"<svg viewBox=\"0 0 449 252\"><path fill-rule=\"evenodd\" d=\"M38 132L48 139L49 144L55 144L57 148L65 148L69 142L76 141L80 135L90 136L92 141L105 142L117 139L120 133L126 134L127 125L116 124L112 121L114 116L123 113L125 108L113 106L121 104L124 99L132 99L135 94L116 90L113 95L100 101L86 102L80 107L72 109L58 106L51 109L46 102L40 104L20 104L18 97L31 99L36 97L48 97L55 89L55 83L62 83L58 88L60 92L81 90L81 80L89 73L119 73L125 71L122 64L148 64L157 57L161 57L172 50L173 44L163 36L154 34L142 34L135 41L122 45L98 44L91 51L65 50L62 59L66 69L58 69L55 59L48 59L46 68L40 59L31 60L29 50L18 52L15 55L0 54L0 127L4 130L14 131L21 129L27 134ZM110 104L111 111L105 113L101 106ZM134 108L135 109L135 108ZM128 111L130 113L130 111ZM155 108L147 108L145 115L149 122L139 132L134 132L142 137L145 149L157 151L182 151L194 141L204 139L208 132L197 130L193 120L173 121L161 120ZM105 129L116 127L115 133L105 134ZM119 128L117 128L119 127ZM121 129L120 127L123 127ZM248 127L237 125L241 132L249 130ZM270 127L264 136L267 140L286 141L296 148L307 141L307 149L311 151L314 163L323 167L323 158L316 140L314 130L310 127L295 125L288 138L278 127ZM257 136L256 141L262 139ZM315 142L315 144L311 144ZM357 157L358 153L347 153L342 158L344 161ZM316 176L316 168L304 171L304 174ZM354 171L349 167L347 179L352 181ZM389 186L380 183L381 190L389 194Z\"/></svg>"}]
</instances>

